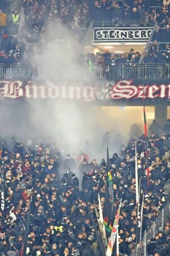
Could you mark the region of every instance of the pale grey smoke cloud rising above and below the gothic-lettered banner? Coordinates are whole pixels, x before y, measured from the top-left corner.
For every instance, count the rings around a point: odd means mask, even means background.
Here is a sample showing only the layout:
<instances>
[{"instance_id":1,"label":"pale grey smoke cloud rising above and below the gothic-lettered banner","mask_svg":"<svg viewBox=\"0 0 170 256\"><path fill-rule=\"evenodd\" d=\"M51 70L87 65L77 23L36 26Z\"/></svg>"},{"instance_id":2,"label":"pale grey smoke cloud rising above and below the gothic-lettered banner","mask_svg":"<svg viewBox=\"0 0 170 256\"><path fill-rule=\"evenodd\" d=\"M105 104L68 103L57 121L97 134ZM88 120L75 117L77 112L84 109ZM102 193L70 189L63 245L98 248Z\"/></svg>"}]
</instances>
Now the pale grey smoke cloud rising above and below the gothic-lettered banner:
<instances>
[{"instance_id":1,"label":"pale grey smoke cloud rising above and below the gothic-lettered banner","mask_svg":"<svg viewBox=\"0 0 170 256\"><path fill-rule=\"evenodd\" d=\"M83 56L79 44L74 35L59 21L49 24L45 34L41 36L40 45L35 46L35 53L32 54L32 63L46 65L48 70L52 69L51 66L56 66L59 71L55 74L54 82L57 85L81 86L94 82L95 86L95 81L90 77L82 76ZM45 72L40 80L49 82ZM65 155L77 155L80 150L84 150L90 155L90 159L98 156L99 162L105 156L101 147L101 138L105 131L108 130L112 138L116 134L122 138L121 131L124 132L125 141L129 137L129 117L126 118L124 126L121 115L114 116L113 113L111 117L102 113L98 105L90 105L88 102L24 99L3 100L0 105L1 137L6 138L8 144L12 136L23 142L30 138L36 144L44 142L54 144L60 150L65 148ZM111 154L119 150L120 143L122 140L117 140L111 148Z\"/></svg>"}]
</instances>

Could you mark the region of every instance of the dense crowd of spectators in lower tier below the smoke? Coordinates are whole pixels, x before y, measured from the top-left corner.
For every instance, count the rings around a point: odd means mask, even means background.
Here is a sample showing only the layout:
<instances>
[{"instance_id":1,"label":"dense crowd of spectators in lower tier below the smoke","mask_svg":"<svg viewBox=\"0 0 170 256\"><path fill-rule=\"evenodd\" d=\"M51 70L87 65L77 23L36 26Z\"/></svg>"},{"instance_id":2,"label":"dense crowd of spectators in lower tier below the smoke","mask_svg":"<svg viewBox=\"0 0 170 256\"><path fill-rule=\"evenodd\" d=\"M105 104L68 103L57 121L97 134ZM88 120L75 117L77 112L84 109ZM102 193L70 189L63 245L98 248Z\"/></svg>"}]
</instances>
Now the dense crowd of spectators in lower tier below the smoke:
<instances>
[{"instance_id":1,"label":"dense crowd of spectators in lower tier below the smoke","mask_svg":"<svg viewBox=\"0 0 170 256\"><path fill-rule=\"evenodd\" d=\"M158 124L153 123L151 131L157 128ZM164 131L170 131L169 119ZM107 142L107 136L108 133L104 142ZM122 199L119 248L124 255L130 255L135 249L138 236L134 146L135 140L130 139L126 146L120 147L118 154L115 152L109 159L113 183L113 219ZM70 154L61 154L52 145L35 145L31 141L23 145L15 138L12 138L10 148L1 139L1 255L20 255L28 209L31 207L27 255L102 256L89 210L96 220L94 204L99 207L98 193L101 207L104 207L107 179L105 160L97 164L96 159L90 160L82 151L74 158ZM148 163L145 150L145 137L142 135L137 139L141 197L145 195L142 234L169 199L170 135L159 137L151 134L148 139ZM147 186L147 166L150 170L150 187ZM169 234L167 221L148 244L150 255L169 256Z\"/></svg>"}]
</instances>

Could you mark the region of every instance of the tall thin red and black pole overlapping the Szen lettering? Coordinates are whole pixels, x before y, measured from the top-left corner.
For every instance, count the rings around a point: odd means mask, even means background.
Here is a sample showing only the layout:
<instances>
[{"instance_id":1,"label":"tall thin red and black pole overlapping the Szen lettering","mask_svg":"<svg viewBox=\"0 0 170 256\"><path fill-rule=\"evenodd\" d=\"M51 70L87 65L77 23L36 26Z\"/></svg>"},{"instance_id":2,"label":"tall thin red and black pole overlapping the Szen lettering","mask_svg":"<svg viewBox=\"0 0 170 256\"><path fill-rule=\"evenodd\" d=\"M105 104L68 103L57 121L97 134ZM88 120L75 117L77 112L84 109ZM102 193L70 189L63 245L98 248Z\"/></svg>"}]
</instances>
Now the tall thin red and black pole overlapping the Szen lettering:
<instances>
[{"instance_id":1,"label":"tall thin red and black pole overlapping the Szen lettering","mask_svg":"<svg viewBox=\"0 0 170 256\"><path fill-rule=\"evenodd\" d=\"M143 121L144 121L144 134L145 134L145 141L146 141L146 165L147 165L147 187L150 186L150 171L148 168L148 141L147 141L147 123L146 123L146 110L145 110L145 90L143 87Z\"/></svg>"}]
</instances>

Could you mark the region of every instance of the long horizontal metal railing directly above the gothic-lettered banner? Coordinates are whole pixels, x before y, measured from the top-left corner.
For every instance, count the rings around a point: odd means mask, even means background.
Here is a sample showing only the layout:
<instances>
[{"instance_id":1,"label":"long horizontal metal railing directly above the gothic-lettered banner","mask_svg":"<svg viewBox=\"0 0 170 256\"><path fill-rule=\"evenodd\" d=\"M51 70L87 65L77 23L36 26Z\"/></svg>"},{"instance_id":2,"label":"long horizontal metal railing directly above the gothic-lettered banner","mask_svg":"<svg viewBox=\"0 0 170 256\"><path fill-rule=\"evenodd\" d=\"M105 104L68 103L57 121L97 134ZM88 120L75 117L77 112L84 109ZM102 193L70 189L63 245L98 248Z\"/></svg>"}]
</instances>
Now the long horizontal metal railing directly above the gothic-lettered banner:
<instances>
[{"instance_id":1,"label":"long horizontal metal railing directly above the gothic-lettered banner","mask_svg":"<svg viewBox=\"0 0 170 256\"><path fill-rule=\"evenodd\" d=\"M169 64L102 67L94 65L1 65L0 79L169 79Z\"/></svg>"}]
</instances>

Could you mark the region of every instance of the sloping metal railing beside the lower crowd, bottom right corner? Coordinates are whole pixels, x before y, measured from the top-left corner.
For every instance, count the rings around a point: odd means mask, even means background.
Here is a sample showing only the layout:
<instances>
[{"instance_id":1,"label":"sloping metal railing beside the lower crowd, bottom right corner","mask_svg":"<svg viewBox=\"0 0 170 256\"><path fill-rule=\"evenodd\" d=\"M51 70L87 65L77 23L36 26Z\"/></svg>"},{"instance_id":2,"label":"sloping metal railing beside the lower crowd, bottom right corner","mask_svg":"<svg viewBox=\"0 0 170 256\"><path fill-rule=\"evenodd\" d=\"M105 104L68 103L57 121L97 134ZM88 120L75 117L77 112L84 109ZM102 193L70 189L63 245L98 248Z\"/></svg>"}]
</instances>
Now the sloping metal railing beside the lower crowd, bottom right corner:
<instances>
[{"instance_id":1,"label":"sloping metal railing beside the lower crowd, bottom right corner","mask_svg":"<svg viewBox=\"0 0 170 256\"><path fill-rule=\"evenodd\" d=\"M150 228L144 233L142 240L138 243L137 251L133 251L130 256L147 256L147 245L151 238L155 237L155 233L158 233L160 227L164 227L165 222L169 218L170 213L170 199L167 201L165 207L160 211L159 216L155 222L152 223Z\"/></svg>"}]
</instances>

